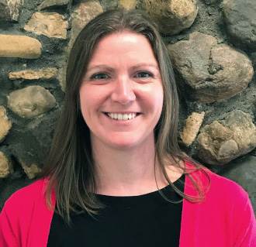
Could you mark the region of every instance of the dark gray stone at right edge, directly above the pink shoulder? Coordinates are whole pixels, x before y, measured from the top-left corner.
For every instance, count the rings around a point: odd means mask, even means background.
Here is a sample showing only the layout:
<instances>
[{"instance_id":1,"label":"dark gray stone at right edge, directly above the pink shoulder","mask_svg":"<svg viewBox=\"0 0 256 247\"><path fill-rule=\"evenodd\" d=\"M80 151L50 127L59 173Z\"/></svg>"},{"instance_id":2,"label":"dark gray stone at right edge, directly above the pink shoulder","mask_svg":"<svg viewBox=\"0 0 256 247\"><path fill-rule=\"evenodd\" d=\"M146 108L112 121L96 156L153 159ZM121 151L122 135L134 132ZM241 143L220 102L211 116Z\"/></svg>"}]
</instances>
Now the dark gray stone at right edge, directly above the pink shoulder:
<instances>
[{"instance_id":1,"label":"dark gray stone at right edge, directly above the pink shoulder","mask_svg":"<svg viewBox=\"0 0 256 247\"><path fill-rule=\"evenodd\" d=\"M234 180L247 191L256 213L256 157L247 155L230 162L221 175Z\"/></svg>"}]
</instances>

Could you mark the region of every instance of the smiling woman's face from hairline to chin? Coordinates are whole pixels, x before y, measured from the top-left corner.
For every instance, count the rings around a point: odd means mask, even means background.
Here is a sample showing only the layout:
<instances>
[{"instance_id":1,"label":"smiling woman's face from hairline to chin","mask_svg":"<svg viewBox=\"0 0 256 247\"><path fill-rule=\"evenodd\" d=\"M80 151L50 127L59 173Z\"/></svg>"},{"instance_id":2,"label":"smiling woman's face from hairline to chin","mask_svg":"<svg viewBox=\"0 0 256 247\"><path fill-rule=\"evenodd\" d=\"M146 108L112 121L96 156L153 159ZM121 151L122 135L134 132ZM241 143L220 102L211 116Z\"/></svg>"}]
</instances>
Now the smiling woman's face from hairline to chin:
<instances>
[{"instance_id":1,"label":"smiling woman's face from hairline to chin","mask_svg":"<svg viewBox=\"0 0 256 247\"><path fill-rule=\"evenodd\" d=\"M100 40L80 87L92 142L123 149L154 140L163 98L157 60L143 35L123 31Z\"/></svg>"}]
</instances>

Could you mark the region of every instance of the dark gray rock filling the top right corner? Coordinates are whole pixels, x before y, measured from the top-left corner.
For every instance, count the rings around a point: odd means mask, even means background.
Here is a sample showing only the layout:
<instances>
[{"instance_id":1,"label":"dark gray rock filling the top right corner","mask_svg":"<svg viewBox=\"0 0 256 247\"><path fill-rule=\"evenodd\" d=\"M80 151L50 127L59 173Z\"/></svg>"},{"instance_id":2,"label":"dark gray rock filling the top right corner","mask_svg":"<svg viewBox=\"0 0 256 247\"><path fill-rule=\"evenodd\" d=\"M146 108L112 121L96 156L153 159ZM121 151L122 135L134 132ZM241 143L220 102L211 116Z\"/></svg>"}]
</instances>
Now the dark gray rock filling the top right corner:
<instances>
[{"instance_id":1,"label":"dark gray rock filling the top right corner","mask_svg":"<svg viewBox=\"0 0 256 247\"><path fill-rule=\"evenodd\" d=\"M224 0L223 16L234 43L256 50L256 1Z\"/></svg>"}]
</instances>

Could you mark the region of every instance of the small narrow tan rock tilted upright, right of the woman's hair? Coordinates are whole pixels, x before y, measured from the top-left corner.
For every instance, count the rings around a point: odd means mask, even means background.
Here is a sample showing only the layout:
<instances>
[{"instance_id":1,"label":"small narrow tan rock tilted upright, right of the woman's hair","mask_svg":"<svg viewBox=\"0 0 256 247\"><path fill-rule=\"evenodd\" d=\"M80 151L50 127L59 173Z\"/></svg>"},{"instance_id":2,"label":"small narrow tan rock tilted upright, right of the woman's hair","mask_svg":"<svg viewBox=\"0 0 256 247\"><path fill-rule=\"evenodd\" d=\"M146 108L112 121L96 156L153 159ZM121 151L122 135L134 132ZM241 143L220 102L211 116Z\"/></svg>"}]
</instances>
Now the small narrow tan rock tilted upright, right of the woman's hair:
<instances>
[{"instance_id":1,"label":"small narrow tan rock tilted upright, right of the woman's hair","mask_svg":"<svg viewBox=\"0 0 256 247\"><path fill-rule=\"evenodd\" d=\"M205 112L201 113L192 112L192 115L185 121L185 127L181 132L182 142L185 143L186 146L190 146L192 142L194 142L195 137L197 136L199 129L202 125L203 118L205 116Z\"/></svg>"}]
</instances>

